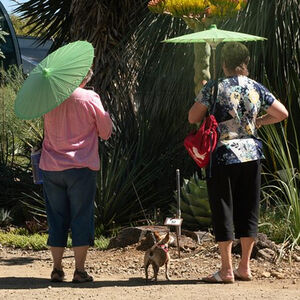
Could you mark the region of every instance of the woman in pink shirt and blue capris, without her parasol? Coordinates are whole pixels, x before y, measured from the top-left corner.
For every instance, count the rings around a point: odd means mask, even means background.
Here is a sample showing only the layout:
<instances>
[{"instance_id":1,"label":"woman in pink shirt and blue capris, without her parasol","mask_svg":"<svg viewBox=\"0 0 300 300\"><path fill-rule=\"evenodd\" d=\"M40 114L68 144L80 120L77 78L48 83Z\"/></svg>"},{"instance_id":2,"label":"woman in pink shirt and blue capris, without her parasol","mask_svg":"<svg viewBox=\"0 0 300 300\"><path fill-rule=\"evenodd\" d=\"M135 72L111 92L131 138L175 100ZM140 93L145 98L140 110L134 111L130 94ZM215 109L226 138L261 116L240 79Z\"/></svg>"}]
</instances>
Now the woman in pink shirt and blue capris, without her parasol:
<instances>
[{"instance_id":1,"label":"woman in pink shirt and blue capris, without her parasol","mask_svg":"<svg viewBox=\"0 0 300 300\"><path fill-rule=\"evenodd\" d=\"M85 271L85 260L94 244L98 137L110 137L112 121L99 95L84 89L92 75L90 70L72 95L44 116L40 168L54 263L51 281L56 282L64 280L62 257L69 229L75 256L73 282L93 280Z\"/></svg>"}]
</instances>

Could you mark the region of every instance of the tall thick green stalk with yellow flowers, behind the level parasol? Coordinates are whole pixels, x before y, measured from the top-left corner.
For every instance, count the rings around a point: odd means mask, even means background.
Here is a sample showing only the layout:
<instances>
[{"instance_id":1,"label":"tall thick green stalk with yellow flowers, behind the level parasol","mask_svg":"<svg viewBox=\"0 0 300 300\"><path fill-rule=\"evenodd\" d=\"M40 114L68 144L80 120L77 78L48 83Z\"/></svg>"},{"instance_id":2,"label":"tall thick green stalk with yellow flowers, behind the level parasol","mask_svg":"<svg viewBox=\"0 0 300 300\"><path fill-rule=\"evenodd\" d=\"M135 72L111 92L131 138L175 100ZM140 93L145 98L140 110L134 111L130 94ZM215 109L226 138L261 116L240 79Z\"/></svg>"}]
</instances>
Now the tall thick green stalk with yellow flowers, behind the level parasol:
<instances>
[{"instance_id":1,"label":"tall thick green stalk with yellow flowers, behind the level parasol","mask_svg":"<svg viewBox=\"0 0 300 300\"><path fill-rule=\"evenodd\" d=\"M247 4L247 0L151 0L148 8L153 13L181 18L194 32L205 30L212 23L233 17ZM204 80L210 79L210 46L194 44L194 82L197 95Z\"/></svg>"}]
</instances>

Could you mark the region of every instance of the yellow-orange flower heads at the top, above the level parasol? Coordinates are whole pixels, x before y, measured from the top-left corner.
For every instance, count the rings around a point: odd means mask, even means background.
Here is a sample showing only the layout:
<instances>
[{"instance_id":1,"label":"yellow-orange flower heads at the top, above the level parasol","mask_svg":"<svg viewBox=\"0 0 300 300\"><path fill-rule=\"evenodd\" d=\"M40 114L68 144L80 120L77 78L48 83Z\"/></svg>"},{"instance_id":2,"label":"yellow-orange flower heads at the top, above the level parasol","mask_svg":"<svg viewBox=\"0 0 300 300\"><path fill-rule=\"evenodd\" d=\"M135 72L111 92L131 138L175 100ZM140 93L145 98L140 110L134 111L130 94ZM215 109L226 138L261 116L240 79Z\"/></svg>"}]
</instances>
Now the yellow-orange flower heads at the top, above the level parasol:
<instances>
[{"instance_id":1,"label":"yellow-orange flower heads at the top, above the level parasol","mask_svg":"<svg viewBox=\"0 0 300 300\"><path fill-rule=\"evenodd\" d=\"M205 19L234 15L246 4L247 0L151 0L148 8L174 17Z\"/></svg>"}]
</instances>

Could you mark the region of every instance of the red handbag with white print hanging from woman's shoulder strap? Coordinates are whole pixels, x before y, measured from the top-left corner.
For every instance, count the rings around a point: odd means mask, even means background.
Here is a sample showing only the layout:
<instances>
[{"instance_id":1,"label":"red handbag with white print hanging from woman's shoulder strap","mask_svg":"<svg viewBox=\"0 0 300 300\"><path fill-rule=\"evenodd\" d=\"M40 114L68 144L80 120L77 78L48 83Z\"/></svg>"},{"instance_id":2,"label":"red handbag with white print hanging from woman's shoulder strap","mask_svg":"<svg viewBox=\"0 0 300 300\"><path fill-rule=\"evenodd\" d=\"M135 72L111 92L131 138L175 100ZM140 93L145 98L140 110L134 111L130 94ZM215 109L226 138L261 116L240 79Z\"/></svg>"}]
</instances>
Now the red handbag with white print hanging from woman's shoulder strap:
<instances>
[{"instance_id":1,"label":"red handbag with white print hanging from woman's shoulder strap","mask_svg":"<svg viewBox=\"0 0 300 300\"><path fill-rule=\"evenodd\" d=\"M211 155L218 143L218 122L213 115L216 106L217 89L218 82L216 80L211 113L205 118L196 133L192 132L184 139L185 148L200 168L205 168L209 164Z\"/></svg>"}]
</instances>

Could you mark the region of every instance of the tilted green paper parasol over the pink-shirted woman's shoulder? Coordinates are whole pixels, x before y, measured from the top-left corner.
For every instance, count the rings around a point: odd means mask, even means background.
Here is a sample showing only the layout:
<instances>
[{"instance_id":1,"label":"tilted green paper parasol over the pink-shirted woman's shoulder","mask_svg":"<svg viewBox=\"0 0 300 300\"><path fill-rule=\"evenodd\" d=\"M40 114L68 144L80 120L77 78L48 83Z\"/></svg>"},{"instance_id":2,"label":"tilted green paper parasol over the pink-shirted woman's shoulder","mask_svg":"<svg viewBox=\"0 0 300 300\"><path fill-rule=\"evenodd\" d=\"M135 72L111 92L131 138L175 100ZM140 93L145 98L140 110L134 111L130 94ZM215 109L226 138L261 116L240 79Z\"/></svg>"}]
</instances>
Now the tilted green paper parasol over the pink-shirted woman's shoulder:
<instances>
[{"instance_id":1,"label":"tilted green paper parasol over the pink-shirted woman's shoulder","mask_svg":"<svg viewBox=\"0 0 300 300\"><path fill-rule=\"evenodd\" d=\"M51 111L80 85L94 59L87 41L67 44L48 55L29 74L15 100L15 113L24 120Z\"/></svg>"}]
</instances>

